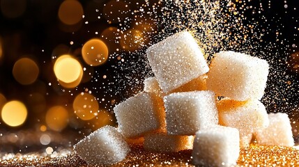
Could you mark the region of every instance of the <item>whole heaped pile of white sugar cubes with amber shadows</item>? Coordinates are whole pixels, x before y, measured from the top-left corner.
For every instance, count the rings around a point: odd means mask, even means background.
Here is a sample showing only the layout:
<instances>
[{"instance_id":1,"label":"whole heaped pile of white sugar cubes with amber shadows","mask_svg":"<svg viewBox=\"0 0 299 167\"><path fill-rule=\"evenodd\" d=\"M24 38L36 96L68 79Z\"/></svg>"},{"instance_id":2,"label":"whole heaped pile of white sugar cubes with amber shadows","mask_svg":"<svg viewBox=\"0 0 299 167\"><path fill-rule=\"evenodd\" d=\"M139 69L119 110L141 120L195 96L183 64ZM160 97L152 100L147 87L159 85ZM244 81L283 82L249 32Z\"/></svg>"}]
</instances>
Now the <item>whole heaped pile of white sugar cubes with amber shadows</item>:
<instances>
[{"instance_id":1,"label":"whole heaped pile of white sugar cubes with amber shadows","mask_svg":"<svg viewBox=\"0 0 299 167\"><path fill-rule=\"evenodd\" d=\"M192 149L199 166L236 164L240 147L292 146L286 113L267 114L263 97L269 65L233 51L214 55L210 65L192 35L183 31L148 48L155 77L144 91L114 108L118 128L102 127L75 145L88 164L115 164L141 143L153 152Z\"/></svg>"}]
</instances>

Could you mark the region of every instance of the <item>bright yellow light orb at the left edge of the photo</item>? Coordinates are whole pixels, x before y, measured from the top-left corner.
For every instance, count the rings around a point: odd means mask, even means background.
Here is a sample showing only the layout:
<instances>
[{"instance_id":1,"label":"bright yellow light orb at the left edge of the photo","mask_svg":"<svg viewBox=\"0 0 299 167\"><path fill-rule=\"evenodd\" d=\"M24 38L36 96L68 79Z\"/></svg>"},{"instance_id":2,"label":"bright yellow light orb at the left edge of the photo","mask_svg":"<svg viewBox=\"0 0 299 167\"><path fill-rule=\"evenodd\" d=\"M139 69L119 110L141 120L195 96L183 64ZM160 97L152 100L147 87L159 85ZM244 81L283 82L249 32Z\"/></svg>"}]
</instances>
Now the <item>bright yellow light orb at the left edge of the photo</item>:
<instances>
[{"instance_id":1,"label":"bright yellow light orb at the left edge of the photo","mask_svg":"<svg viewBox=\"0 0 299 167\"><path fill-rule=\"evenodd\" d=\"M7 102L2 108L1 118L10 127L20 126L27 118L26 106L17 100Z\"/></svg>"}]
</instances>

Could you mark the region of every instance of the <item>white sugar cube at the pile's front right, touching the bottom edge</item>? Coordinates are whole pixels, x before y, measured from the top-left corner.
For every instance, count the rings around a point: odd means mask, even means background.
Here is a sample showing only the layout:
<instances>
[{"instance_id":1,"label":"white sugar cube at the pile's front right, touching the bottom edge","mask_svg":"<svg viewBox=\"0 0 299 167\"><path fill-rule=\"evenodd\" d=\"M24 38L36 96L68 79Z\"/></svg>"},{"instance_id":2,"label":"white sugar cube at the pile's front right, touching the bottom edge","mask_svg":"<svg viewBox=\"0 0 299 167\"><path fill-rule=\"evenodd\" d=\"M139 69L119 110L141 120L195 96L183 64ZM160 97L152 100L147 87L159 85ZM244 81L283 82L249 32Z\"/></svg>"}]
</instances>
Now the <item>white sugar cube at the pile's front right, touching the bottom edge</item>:
<instances>
[{"instance_id":1,"label":"white sugar cube at the pile's front right, touching the bottom edge","mask_svg":"<svg viewBox=\"0 0 299 167\"><path fill-rule=\"evenodd\" d=\"M239 132L215 126L199 130L193 143L192 163L196 166L232 166L240 152Z\"/></svg>"}]
</instances>

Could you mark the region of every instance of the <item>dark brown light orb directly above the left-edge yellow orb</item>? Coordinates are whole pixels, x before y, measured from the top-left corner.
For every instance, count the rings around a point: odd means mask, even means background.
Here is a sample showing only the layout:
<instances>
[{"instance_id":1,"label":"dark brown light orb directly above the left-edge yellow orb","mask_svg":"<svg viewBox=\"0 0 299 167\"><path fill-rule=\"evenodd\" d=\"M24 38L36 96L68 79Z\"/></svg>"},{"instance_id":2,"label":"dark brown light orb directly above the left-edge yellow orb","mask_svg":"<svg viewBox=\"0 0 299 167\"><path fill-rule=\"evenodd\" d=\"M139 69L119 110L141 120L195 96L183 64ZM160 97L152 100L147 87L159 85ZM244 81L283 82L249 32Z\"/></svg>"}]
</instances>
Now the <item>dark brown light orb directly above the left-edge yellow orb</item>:
<instances>
[{"instance_id":1,"label":"dark brown light orb directly above the left-edge yellow orb","mask_svg":"<svg viewBox=\"0 0 299 167\"><path fill-rule=\"evenodd\" d=\"M39 72L38 65L30 58L20 58L13 65L13 77L22 85L33 84Z\"/></svg>"}]
</instances>

